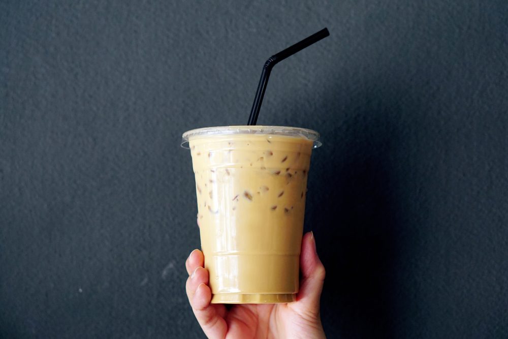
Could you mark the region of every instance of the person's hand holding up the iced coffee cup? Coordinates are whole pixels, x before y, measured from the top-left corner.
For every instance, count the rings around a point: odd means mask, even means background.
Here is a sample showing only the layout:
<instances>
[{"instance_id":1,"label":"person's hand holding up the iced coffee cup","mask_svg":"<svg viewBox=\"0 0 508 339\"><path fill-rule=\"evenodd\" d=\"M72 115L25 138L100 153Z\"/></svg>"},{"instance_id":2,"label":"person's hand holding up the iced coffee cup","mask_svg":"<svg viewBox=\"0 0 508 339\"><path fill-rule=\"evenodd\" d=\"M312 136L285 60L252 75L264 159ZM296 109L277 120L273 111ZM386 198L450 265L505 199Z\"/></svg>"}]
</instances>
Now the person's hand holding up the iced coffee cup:
<instances>
[{"instance_id":1,"label":"person's hand holding up the iced coffee cup","mask_svg":"<svg viewBox=\"0 0 508 339\"><path fill-rule=\"evenodd\" d=\"M224 338L325 338L321 325L320 296L325 267L317 257L311 232L302 239L300 291L297 301L280 304L211 304L208 270L200 250L190 253L185 267L185 289L196 319L210 339Z\"/></svg>"}]
</instances>

